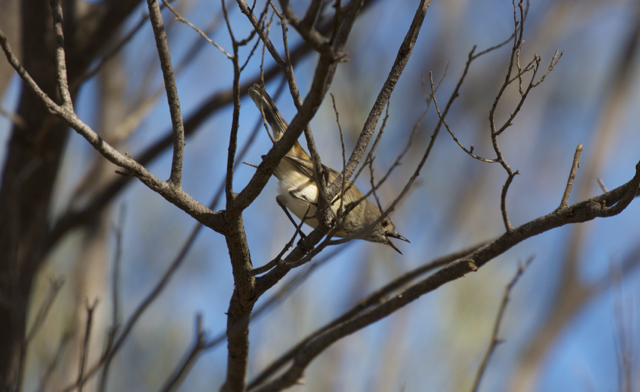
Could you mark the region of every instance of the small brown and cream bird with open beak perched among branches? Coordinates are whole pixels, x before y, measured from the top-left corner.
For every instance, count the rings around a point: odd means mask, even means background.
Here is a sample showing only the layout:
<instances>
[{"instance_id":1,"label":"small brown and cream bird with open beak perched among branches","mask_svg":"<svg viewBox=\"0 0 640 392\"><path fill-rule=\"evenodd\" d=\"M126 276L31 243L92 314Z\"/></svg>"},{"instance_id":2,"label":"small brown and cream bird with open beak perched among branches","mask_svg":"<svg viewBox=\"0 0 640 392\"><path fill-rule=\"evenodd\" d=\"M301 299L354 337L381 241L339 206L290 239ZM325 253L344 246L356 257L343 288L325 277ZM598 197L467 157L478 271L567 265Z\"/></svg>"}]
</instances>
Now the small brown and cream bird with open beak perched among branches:
<instances>
[{"instance_id":1,"label":"small brown and cream bird with open beak perched among branches","mask_svg":"<svg viewBox=\"0 0 640 392\"><path fill-rule=\"evenodd\" d=\"M262 113L264 120L272 129L273 135L269 135L275 143L288 128L287 122L282 118L280 111L275 103L267 94L265 89L259 84L253 84L249 87L249 96L255 103L256 107ZM267 128L267 132L269 129ZM327 174L328 183L332 183L340 173L325 165L322 165ZM285 211L291 222L296 225L295 221L287 211L290 210L305 224L312 228L318 226L316 217L318 203L318 186L314 179L314 164L309 154L302 148L298 141L285 154L278 163L274 171L274 175L279 182L280 194L276 197L276 201ZM370 226L382 215L380 208L356 187L351 181L345 182L346 190L342 197L344 207L351 203L359 203L348 211L340 222L339 227L335 231L336 237L348 237L356 234L355 238L363 239L370 242L382 243L390 246L396 252L402 252L391 242L390 238L396 238L405 242L409 242L406 238L398 234L396 227L388 216L378 222L368 231L363 231ZM340 209L340 194L338 194L331 203L331 209L334 216L337 216ZM297 226L297 225L296 225Z\"/></svg>"}]
</instances>

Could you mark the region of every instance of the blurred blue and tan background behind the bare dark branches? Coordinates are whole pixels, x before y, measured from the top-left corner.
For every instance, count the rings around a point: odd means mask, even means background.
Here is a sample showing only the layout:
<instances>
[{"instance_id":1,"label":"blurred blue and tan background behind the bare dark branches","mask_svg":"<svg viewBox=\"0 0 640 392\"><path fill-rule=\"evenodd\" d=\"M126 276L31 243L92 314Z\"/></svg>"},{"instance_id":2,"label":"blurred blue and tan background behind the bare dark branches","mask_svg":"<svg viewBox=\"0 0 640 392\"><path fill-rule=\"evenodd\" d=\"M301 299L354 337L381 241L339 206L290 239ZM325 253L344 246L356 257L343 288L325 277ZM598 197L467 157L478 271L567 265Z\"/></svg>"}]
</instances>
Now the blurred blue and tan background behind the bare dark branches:
<instances>
[{"instance_id":1,"label":"blurred blue and tan background behind the bare dark branches","mask_svg":"<svg viewBox=\"0 0 640 392\"><path fill-rule=\"evenodd\" d=\"M179 0L174 4L196 26L209 26L209 36L216 42L230 46L219 2ZM292 5L297 12L306 8L306 2ZM338 67L330 88L345 133L347 154L416 5L415 0L375 1L354 27L347 47L349 61ZM235 3L229 2L228 8L236 37L248 35L250 25ZM122 29L123 36L145 12L146 5L139 7ZM174 65L184 64L177 82L182 112L188 117L209 96L231 87L231 62L189 27L173 21L166 10L164 16ZM633 176L640 156L639 25L637 1L531 3L523 61L535 53L542 56L546 67L556 49L566 52L546 81L531 92L513 126L499 139L507 162L520 172L507 199L514 226L557 208L579 143L584 152L570 202L601 192L598 178L613 189ZM473 46L483 50L504 41L512 31L513 8L509 2L433 2L414 54L391 98L385 137L373 165L377 178L402 150L426 107L422 78L428 78L429 72L436 80L443 78L436 94L443 105ZM282 49L280 27L275 22L271 37ZM290 29L290 46L300 42ZM197 50L191 50L193 45L198 45ZM245 58L249 49L243 52ZM243 82L259 73L261 49L251 59ZM472 64L448 117L461 142L467 147L473 144L482 156L492 157L487 118L504 79L508 56L507 46ZM272 64L267 53L265 67ZM311 55L295 68L303 96L314 66L315 57ZM268 82L267 91L276 95L281 79L278 76ZM4 89L3 109L15 108L19 89L14 75ZM505 119L518 98L517 90L510 88L500 102L498 118ZM290 120L295 106L286 89L277 103L285 119ZM242 105L240 145L262 122L247 97ZM98 76L86 82L76 109L101 136L134 157L167 134L171 123L149 25ZM383 207L409 179L436 120L431 108L402 166L379 191ZM231 107L223 107L187 139L183 188L204 204L224 179L230 124ZM311 125L323 163L340 169L340 139L329 97ZM11 123L0 118L0 157L7 153L5 141L10 129ZM258 132L243 160L259 163L260 156L270 148L266 133ZM166 150L147 167L160 178L168 178L170 158ZM56 183L52 220L69 208L81 208L117 177L114 170L84 139L72 133ZM246 165L238 167L236 191L246 184L253 170ZM367 178L365 171L358 180L361 189L368 189ZM356 241L315 268L302 285L252 324L250 378L385 282L437 256L500 235L504 231L500 192L505 179L501 167L471 159L448 134L441 133L419 182L392 214L398 231L411 240L411 244L400 244L404 255L382 245ZM276 185L271 180L244 215L255 266L271 260L293 232L275 203ZM221 201L215 209L223 207ZM628 380L633 382L633 390L640 390L639 213L639 203L634 202L614 218L563 227L526 241L476 273L338 342L313 362L306 372L305 385L295 390L468 390L489 344L504 286L529 257L534 261L512 292L500 331L505 342L494 353L480 390L632 390L624 387ZM65 284L29 346L24 390L38 389L66 334L72 334L72 338L64 346L46 390L60 390L75 380L86 303L96 299L99 303L89 363L99 357L111 324L116 228L122 232L119 316L126 319L177 255L193 227L190 217L132 181L100 219L66 235L37 279L30 320L49 292L50 280L63 278ZM204 327L212 335L224 331L232 285L224 238L201 231L184 264L115 357L108 390L160 388L193 341L196 314L203 316ZM625 355L629 361L622 360ZM630 376L625 376L625 369ZM201 356L180 390L217 389L225 371L223 343ZM94 379L89 388L95 385Z\"/></svg>"}]
</instances>

